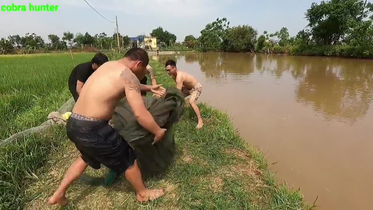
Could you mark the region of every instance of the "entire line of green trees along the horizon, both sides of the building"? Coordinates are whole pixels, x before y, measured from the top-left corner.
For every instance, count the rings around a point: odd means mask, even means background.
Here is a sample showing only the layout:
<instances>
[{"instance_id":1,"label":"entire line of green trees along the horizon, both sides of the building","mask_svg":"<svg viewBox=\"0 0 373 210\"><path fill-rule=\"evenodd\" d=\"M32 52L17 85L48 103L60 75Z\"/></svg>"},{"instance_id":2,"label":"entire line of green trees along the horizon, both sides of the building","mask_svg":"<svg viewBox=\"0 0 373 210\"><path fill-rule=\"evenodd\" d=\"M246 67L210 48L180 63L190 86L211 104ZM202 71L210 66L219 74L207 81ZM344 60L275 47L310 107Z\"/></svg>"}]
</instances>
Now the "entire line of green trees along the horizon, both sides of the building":
<instances>
[{"instance_id":1,"label":"entire line of green trees along the horizon, both sides of the building","mask_svg":"<svg viewBox=\"0 0 373 210\"><path fill-rule=\"evenodd\" d=\"M288 29L268 33L258 31L250 25L231 27L226 18L217 18L201 30L200 37L188 35L182 43L176 43L176 36L162 27L154 29L150 35L157 37L157 44L170 50L219 50L227 52L258 52L269 54L352 56L373 58L373 4L368 0L327 0L312 3L305 11L308 24L294 37ZM144 37L145 35L139 35ZM48 35L50 43L43 38L27 33L24 37L9 36L0 40L0 49L7 53L13 49L63 50L67 47L92 45L98 49L117 46L116 34L106 33ZM130 43L128 36L119 34L120 45ZM176 45L176 44L177 45ZM122 47L120 46L120 47ZM177 47L176 47L177 46Z\"/></svg>"}]
</instances>

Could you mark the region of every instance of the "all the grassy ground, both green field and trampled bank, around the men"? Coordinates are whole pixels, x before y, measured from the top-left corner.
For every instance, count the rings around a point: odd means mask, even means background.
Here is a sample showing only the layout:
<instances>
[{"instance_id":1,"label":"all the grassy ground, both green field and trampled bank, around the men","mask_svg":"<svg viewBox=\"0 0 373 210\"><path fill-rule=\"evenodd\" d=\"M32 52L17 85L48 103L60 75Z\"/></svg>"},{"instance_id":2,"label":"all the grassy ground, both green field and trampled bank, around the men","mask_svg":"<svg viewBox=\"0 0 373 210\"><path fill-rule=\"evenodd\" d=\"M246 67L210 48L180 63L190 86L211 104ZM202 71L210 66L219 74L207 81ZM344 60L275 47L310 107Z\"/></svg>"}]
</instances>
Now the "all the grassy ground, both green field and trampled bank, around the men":
<instances>
[{"instance_id":1,"label":"all the grassy ground, both green field and trampled bank, around the men","mask_svg":"<svg viewBox=\"0 0 373 210\"><path fill-rule=\"evenodd\" d=\"M74 54L75 64L89 60L92 55ZM0 57L0 65L9 71L9 74L1 72L1 78L14 81L1 84L0 89L1 100L7 100L1 113L12 114L6 122L13 127L1 130L5 136L41 123L50 111L69 98L67 78L72 68L69 54L6 56ZM174 85L163 65L155 61L151 65L159 83L164 87ZM310 208L304 204L300 191L276 184L273 175L267 172L263 154L240 138L225 113L207 104L198 106L205 122L203 129L195 130L196 117L187 107L174 126L177 160L162 177L146 180L151 188L163 188L164 197L138 203L125 180L111 187L73 183L67 192L71 203L66 209ZM4 122L1 123L3 126ZM0 148L0 209L59 209L48 206L47 199L78 155L63 126L54 126L48 132ZM94 176L105 172L106 169L88 167L88 173Z\"/></svg>"}]
</instances>

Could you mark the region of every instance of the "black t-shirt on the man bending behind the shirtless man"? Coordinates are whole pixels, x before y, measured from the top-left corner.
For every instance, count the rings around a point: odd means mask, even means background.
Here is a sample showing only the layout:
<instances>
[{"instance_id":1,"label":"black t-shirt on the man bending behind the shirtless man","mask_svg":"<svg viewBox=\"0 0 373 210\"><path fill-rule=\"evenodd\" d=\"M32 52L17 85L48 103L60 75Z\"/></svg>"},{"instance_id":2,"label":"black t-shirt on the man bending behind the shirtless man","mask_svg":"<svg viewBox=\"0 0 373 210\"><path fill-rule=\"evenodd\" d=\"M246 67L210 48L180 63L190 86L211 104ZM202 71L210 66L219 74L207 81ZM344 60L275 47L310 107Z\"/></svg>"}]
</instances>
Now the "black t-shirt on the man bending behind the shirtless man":
<instances>
[{"instance_id":1,"label":"black t-shirt on the man bending behind the shirtless man","mask_svg":"<svg viewBox=\"0 0 373 210\"><path fill-rule=\"evenodd\" d=\"M92 68L92 62L86 62L77 65L71 72L69 77L69 89L70 92L72 92L72 95L77 94L76 93L76 82L79 80L82 83L85 83L93 74L93 68Z\"/></svg>"}]
</instances>

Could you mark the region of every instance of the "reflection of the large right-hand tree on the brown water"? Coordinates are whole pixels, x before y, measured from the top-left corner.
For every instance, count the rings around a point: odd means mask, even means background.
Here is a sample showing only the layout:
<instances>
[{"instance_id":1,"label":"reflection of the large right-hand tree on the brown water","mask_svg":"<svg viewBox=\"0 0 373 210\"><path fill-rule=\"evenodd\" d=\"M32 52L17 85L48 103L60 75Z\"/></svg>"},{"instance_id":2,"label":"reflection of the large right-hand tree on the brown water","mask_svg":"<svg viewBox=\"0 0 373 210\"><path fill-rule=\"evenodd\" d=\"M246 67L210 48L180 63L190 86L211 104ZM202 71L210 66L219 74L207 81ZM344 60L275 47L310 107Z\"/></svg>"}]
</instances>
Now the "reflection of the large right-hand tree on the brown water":
<instances>
[{"instance_id":1,"label":"reflection of the large right-hand tree on the brown water","mask_svg":"<svg viewBox=\"0 0 373 210\"><path fill-rule=\"evenodd\" d=\"M372 102L372 69L364 62L348 59L303 61L302 80L296 89L296 100L312 103L330 120L355 123L367 114Z\"/></svg>"}]
</instances>

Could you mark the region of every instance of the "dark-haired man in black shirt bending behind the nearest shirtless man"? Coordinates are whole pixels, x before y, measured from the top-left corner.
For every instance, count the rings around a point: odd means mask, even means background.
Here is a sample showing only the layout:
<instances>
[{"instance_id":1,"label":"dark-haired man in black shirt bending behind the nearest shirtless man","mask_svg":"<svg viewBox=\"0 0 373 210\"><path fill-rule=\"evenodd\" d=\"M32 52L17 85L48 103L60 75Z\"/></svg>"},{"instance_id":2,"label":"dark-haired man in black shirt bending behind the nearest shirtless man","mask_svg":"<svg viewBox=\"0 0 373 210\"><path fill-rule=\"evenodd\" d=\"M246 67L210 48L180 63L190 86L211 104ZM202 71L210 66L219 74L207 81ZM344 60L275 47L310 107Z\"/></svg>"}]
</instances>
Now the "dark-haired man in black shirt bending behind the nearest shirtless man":
<instances>
[{"instance_id":1,"label":"dark-haired man in black shirt bending behind the nearest shirtless man","mask_svg":"<svg viewBox=\"0 0 373 210\"><path fill-rule=\"evenodd\" d=\"M75 102L78 101L79 93L88 77L107 61L109 59L106 55L97 53L91 61L79 64L72 70L69 77L69 90Z\"/></svg>"}]
</instances>

